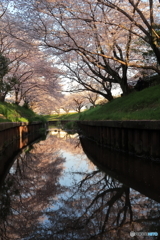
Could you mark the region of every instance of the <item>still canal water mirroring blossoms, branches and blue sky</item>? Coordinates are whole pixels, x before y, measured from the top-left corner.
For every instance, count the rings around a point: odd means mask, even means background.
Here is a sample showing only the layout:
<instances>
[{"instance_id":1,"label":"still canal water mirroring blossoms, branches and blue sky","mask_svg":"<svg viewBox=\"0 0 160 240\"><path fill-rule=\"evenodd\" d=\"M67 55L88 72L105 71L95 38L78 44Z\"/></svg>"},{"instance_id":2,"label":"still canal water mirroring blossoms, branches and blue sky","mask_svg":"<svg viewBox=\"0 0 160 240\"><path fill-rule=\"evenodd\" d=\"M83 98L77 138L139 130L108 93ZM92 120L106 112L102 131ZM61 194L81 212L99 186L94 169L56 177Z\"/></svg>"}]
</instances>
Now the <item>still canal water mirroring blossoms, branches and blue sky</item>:
<instances>
[{"instance_id":1,"label":"still canal water mirroring blossoms, branches and blue sky","mask_svg":"<svg viewBox=\"0 0 160 240\"><path fill-rule=\"evenodd\" d=\"M97 167L81 143L52 129L21 151L0 190L1 240L159 239L147 236L160 234L159 201Z\"/></svg>"}]
</instances>

